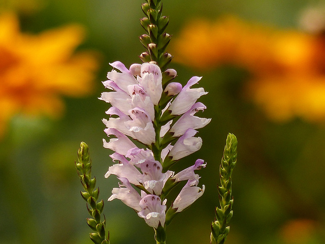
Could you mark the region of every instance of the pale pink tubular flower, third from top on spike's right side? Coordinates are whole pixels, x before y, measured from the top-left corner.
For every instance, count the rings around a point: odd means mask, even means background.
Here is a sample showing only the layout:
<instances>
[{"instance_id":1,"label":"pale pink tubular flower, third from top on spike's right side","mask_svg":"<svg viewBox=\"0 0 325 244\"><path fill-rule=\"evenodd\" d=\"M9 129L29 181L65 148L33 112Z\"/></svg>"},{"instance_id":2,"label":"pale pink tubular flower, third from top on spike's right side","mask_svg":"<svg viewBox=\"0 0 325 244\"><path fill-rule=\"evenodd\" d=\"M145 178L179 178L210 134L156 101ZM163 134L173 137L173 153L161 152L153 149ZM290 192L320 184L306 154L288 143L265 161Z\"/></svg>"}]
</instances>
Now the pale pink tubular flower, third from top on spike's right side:
<instances>
[{"instance_id":1,"label":"pale pink tubular flower, third from top on spike's right side","mask_svg":"<svg viewBox=\"0 0 325 244\"><path fill-rule=\"evenodd\" d=\"M196 130L187 129L184 135L176 141L168 156L173 157L173 160L179 160L199 150L202 146L202 139L193 137L195 134L197 134Z\"/></svg>"}]
</instances>

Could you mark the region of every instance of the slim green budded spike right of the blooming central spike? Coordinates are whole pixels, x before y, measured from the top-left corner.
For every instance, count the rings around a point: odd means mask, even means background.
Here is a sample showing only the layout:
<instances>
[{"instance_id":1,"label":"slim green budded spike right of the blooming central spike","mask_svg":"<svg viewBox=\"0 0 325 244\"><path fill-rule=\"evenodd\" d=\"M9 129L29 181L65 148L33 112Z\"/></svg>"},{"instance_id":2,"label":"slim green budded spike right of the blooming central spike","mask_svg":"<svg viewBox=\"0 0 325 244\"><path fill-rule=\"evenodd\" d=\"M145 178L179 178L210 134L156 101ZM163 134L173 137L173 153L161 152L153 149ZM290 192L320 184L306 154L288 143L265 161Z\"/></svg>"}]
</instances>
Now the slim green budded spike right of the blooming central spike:
<instances>
[{"instance_id":1,"label":"slim green budded spike right of the blooming central spike","mask_svg":"<svg viewBox=\"0 0 325 244\"><path fill-rule=\"evenodd\" d=\"M229 133L219 168L221 186L218 186L218 195L220 208L216 207L215 221L211 225L210 240L212 244L223 244L230 230L230 226L227 224L233 217L232 172L236 162L237 138Z\"/></svg>"}]
</instances>

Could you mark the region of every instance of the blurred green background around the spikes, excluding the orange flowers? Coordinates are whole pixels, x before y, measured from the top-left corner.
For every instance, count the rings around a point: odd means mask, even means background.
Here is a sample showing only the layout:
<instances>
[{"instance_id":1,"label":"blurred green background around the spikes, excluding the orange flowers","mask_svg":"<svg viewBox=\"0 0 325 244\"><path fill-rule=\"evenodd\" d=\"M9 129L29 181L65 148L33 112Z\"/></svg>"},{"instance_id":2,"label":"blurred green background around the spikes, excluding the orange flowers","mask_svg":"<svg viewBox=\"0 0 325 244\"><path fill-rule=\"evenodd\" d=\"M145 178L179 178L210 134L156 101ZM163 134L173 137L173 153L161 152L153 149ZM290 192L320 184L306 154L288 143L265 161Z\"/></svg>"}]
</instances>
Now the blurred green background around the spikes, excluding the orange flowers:
<instances>
[{"instance_id":1,"label":"blurred green background around the spikes, excluding the orange flowers","mask_svg":"<svg viewBox=\"0 0 325 244\"><path fill-rule=\"evenodd\" d=\"M97 98L104 92L101 81L112 69L109 62L120 60L126 67L140 62L138 56L144 51L138 40L143 34L139 23L143 17L142 2L44 0L39 11L20 14L24 32L38 33L67 23L81 23L86 26L87 39L80 49L91 48L103 55L96 92L85 99L66 98L63 118L17 115L12 119L9 134L0 142L1 244L92 243L74 161L80 142L86 142L93 162L92 174L101 189L100 198L108 199L118 180L115 176L104 178L112 164L109 158L112 151L103 148L102 138L106 134L101 119L107 117L105 111L109 106ZM222 14L296 27L300 11L318 1L165 0L163 3L163 13L170 16L167 32L177 37L187 20L215 19ZM170 68L177 70L176 81L183 85L193 75L203 76L200 87L209 94L199 100L207 106L200 116L211 117L212 121L199 130L202 149L173 168L182 170L198 158L208 163L199 172L200 186L206 186L205 194L168 227L167 243L209 243L210 225L218 204L218 167L229 132L238 139L238 163L233 173L234 217L226 243L325 243L324 124L312 125L299 119L285 124L269 121L243 99L241 87L248 74L235 67L203 72L171 63ZM176 195L175 192L171 197ZM154 243L153 230L119 200L107 202L104 212L112 244ZM295 221L303 223L301 229L289 228L295 226L289 225ZM303 235L306 229L307 234ZM290 233L293 238L288 237Z\"/></svg>"}]
</instances>

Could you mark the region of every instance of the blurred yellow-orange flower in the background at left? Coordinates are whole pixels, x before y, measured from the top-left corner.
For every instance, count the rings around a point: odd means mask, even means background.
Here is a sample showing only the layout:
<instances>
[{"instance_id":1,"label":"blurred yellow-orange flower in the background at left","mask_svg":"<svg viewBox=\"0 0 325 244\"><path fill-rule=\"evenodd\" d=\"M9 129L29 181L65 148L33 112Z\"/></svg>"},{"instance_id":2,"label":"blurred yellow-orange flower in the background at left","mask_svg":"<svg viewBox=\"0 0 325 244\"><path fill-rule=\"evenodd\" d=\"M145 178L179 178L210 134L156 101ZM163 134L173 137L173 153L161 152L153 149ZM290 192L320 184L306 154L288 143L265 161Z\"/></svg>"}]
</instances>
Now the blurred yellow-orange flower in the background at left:
<instances>
[{"instance_id":1,"label":"blurred yellow-orange flower in the background at left","mask_svg":"<svg viewBox=\"0 0 325 244\"><path fill-rule=\"evenodd\" d=\"M96 55L74 53L83 36L79 25L23 34L14 14L0 16L0 138L15 114L57 117L64 109L61 95L92 92Z\"/></svg>"}]
</instances>

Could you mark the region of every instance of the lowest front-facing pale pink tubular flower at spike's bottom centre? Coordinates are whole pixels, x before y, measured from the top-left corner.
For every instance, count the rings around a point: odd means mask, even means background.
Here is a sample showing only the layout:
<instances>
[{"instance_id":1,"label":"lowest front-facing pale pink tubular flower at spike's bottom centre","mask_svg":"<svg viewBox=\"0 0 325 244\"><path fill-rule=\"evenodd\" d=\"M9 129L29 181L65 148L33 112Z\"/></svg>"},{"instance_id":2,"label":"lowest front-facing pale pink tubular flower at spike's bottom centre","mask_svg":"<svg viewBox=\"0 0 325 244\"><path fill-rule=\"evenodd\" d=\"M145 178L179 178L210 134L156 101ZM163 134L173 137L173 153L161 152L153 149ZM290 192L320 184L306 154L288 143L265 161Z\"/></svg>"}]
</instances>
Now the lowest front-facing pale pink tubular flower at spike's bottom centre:
<instances>
[{"instance_id":1,"label":"lowest front-facing pale pink tubular flower at spike's bottom centre","mask_svg":"<svg viewBox=\"0 0 325 244\"><path fill-rule=\"evenodd\" d=\"M142 199L139 205L142 210L138 212L139 217L144 218L147 225L153 228L158 228L159 223L164 226L166 220L165 201L161 204L161 199L156 195L141 195Z\"/></svg>"}]
</instances>

